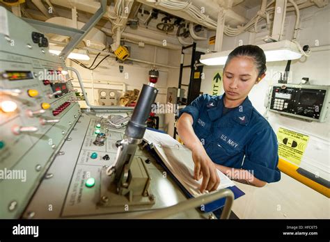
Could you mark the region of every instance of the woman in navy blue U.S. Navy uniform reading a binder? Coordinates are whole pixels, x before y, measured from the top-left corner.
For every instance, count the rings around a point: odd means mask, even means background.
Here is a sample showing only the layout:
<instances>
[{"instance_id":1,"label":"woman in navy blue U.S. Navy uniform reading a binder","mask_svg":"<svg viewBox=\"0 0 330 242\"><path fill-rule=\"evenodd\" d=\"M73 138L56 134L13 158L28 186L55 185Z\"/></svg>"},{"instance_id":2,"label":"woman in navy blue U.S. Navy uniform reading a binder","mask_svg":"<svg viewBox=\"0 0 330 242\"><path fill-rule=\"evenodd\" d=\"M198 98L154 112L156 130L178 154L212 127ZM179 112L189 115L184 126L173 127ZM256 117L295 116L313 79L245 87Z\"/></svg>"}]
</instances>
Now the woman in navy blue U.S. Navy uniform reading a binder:
<instances>
[{"instance_id":1,"label":"woman in navy blue U.S. Navy uniform reading a binder","mask_svg":"<svg viewBox=\"0 0 330 242\"><path fill-rule=\"evenodd\" d=\"M260 47L237 47L223 68L225 93L201 95L180 111L176 127L192 152L194 179L203 177L201 192L219 186L216 169L253 186L281 179L276 135L248 97L265 72L266 56Z\"/></svg>"}]
</instances>

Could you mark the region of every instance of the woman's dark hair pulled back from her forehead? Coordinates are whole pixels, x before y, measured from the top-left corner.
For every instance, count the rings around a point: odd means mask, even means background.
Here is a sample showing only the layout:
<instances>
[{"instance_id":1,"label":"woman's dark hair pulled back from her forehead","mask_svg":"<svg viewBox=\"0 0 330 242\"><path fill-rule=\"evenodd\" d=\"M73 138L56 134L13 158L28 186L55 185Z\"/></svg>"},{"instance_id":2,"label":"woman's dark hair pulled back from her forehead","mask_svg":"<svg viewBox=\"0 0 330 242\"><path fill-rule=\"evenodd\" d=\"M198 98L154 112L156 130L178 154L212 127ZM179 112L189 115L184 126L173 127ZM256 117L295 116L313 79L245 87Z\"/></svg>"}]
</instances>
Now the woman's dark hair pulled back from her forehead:
<instances>
[{"instance_id":1,"label":"woman's dark hair pulled back from her forehead","mask_svg":"<svg viewBox=\"0 0 330 242\"><path fill-rule=\"evenodd\" d=\"M265 53L260 47L256 45L241 45L235 48L230 52L223 69L226 69L226 66L231 61L231 59L237 56L248 56L253 58L253 62L258 69L258 76L261 76L266 72L267 67Z\"/></svg>"}]
</instances>

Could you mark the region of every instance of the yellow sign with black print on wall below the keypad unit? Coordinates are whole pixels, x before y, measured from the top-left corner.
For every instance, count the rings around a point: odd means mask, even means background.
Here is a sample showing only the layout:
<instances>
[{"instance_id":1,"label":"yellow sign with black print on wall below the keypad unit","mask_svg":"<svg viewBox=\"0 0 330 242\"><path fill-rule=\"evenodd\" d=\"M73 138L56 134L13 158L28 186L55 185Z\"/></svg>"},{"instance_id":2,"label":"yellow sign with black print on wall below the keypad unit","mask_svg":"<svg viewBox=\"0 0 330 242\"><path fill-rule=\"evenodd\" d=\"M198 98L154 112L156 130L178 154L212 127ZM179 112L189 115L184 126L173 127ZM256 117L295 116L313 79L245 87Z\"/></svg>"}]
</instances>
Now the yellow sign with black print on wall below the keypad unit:
<instances>
[{"instance_id":1,"label":"yellow sign with black print on wall below the keypad unit","mask_svg":"<svg viewBox=\"0 0 330 242\"><path fill-rule=\"evenodd\" d=\"M279 128L277 131L278 156L299 166L305 152L309 136Z\"/></svg>"}]
</instances>

